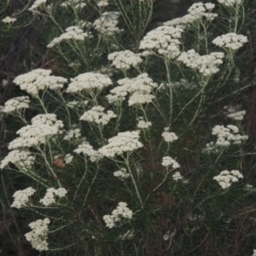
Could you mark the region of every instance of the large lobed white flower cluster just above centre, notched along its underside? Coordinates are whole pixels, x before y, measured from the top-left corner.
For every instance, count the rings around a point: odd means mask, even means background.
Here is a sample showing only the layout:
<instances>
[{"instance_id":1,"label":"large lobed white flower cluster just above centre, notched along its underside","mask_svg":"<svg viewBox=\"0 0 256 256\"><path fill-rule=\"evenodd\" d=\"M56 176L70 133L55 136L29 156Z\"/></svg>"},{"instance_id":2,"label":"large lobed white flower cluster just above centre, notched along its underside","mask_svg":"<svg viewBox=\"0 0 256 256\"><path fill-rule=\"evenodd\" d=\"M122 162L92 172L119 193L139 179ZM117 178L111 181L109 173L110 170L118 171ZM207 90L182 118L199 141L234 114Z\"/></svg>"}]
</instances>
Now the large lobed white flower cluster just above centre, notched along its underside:
<instances>
[{"instance_id":1,"label":"large lobed white flower cluster just above centre, notched along its underside","mask_svg":"<svg viewBox=\"0 0 256 256\"><path fill-rule=\"evenodd\" d=\"M154 99L150 92L157 87L152 79L148 78L148 73L142 73L134 79L119 79L117 86L110 90L110 95L106 96L109 103L123 102L125 96L130 93L129 106L152 102Z\"/></svg>"}]
</instances>

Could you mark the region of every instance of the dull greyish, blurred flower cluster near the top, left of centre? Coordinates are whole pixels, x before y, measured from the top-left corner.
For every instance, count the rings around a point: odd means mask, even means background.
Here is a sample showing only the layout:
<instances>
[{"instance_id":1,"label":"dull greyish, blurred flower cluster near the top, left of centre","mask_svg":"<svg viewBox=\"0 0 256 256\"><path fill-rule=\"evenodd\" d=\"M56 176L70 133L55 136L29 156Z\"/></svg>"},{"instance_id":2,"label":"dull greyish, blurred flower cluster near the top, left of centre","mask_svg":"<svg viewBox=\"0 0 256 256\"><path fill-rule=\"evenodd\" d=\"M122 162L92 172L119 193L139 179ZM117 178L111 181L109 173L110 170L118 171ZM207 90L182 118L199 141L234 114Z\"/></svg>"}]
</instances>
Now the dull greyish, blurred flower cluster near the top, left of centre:
<instances>
[{"instance_id":1,"label":"dull greyish, blurred flower cluster near the top, left of centre","mask_svg":"<svg viewBox=\"0 0 256 256\"><path fill-rule=\"evenodd\" d=\"M99 19L94 21L93 26L102 34L112 36L114 33L122 31L117 27L118 23L119 12L104 12Z\"/></svg>"}]
</instances>

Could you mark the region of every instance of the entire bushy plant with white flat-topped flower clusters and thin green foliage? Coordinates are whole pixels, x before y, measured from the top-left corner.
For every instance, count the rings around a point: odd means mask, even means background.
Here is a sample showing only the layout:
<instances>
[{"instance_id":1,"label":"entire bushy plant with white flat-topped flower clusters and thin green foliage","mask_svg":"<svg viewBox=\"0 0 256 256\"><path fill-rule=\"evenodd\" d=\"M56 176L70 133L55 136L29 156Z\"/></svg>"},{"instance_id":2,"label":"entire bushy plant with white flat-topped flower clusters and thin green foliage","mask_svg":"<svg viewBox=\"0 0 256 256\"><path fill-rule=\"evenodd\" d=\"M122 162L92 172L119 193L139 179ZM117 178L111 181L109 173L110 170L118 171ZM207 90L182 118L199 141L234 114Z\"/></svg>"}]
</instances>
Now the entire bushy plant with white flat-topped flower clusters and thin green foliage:
<instances>
[{"instance_id":1,"label":"entire bushy plant with white flat-topped flower clusters and thin green foliage","mask_svg":"<svg viewBox=\"0 0 256 256\"><path fill-rule=\"evenodd\" d=\"M255 153L232 102L252 85L250 1L215 2L158 25L154 0L36 0L3 17L7 32L22 15L47 23L59 61L18 75L3 108L23 125L0 166L29 180L9 200L19 241L38 255L255 254Z\"/></svg>"}]
</instances>

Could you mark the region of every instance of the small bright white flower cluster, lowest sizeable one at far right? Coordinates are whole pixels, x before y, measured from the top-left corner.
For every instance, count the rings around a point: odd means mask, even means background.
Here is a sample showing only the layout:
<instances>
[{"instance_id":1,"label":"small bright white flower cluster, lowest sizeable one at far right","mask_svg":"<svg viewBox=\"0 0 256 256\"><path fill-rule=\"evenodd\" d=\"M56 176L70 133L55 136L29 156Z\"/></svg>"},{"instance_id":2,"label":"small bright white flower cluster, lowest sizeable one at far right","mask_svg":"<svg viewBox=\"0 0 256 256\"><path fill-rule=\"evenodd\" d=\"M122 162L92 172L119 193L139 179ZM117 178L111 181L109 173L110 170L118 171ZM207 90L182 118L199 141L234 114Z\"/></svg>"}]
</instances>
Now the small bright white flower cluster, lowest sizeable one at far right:
<instances>
[{"instance_id":1,"label":"small bright white flower cluster, lowest sizeable one at far right","mask_svg":"<svg viewBox=\"0 0 256 256\"><path fill-rule=\"evenodd\" d=\"M213 177L213 179L218 182L222 189L230 188L232 183L238 182L238 178L243 178L243 175L237 170L225 170L220 172L218 176Z\"/></svg>"}]
</instances>

